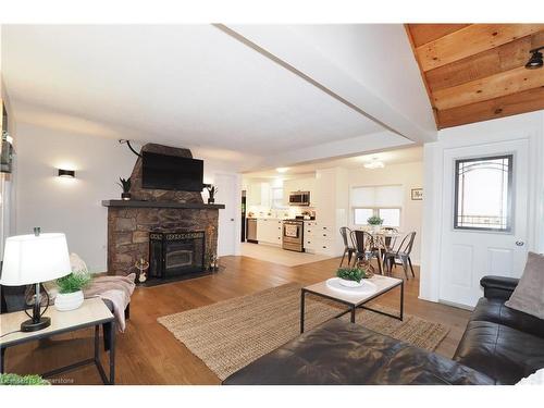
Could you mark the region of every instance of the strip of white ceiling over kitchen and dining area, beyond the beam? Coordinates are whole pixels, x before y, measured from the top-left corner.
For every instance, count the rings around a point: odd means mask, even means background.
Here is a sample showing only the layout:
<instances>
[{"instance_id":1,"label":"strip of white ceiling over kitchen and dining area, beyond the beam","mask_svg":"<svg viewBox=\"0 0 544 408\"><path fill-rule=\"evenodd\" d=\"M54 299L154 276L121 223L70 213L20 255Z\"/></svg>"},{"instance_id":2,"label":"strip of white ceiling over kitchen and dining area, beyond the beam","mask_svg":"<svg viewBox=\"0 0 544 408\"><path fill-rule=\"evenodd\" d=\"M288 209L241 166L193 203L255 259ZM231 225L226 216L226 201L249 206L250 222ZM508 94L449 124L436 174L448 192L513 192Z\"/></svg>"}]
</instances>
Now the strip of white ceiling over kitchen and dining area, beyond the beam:
<instances>
[{"instance_id":1,"label":"strip of white ceiling over kitchen and dining area, beyond the beam","mask_svg":"<svg viewBox=\"0 0 544 408\"><path fill-rule=\"evenodd\" d=\"M345 168L345 169L363 169L363 164L372 160L382 161L385 166L403 164L403 163L413 163L423 161L423 147L413 146L408 148L386 150L380 152L373 152L369 154L359 154L349 158L335 159L335 160L320 160L312 163L294 165L286 168L287 171L284 173L277 172L275 169L270 169L260 172L249 172L245 173L244 177L248 178L296 178L300 174L314 173L319 169L330 169L330 168Z\"/></svg>"}]
</instances>

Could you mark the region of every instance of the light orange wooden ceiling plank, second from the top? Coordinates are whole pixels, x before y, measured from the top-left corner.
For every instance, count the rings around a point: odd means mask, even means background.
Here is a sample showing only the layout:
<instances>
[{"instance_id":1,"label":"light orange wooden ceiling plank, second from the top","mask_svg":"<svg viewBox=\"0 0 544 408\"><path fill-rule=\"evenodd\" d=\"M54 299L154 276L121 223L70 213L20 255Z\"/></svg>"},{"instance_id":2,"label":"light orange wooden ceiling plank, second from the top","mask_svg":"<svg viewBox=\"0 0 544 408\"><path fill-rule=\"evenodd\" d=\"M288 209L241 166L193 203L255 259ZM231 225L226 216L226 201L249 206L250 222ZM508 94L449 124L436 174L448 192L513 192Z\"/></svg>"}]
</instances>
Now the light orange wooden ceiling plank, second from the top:
<instances>
[{"instance_id":1,"label":"light orange wooden ceiling plank, second from the top","mask_svg":"<svg viewBox=\"0 0 544 408\"><path fill-rule=\"evenodd\" d=\"M424 72L544 29L544 24L472 24L416 49Z\"/></svg>"}]
</instances>

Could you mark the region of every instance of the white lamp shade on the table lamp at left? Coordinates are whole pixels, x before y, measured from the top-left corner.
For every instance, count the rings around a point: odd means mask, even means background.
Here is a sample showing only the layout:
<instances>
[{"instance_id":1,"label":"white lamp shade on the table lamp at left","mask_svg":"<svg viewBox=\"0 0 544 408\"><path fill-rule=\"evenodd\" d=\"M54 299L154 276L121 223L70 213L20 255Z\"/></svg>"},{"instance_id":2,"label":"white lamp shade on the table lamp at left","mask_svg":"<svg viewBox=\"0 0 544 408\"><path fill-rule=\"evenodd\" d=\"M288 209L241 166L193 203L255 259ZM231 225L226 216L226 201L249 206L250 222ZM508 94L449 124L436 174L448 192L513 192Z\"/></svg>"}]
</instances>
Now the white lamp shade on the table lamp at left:
<instances>
[{"instance_id":1,"label":"white lamp shade on the table lamp at left","mask_svg":"<svg viewBox=\"0 0 544 408\"><path fill-rule=\"evenodd\" d=\"M71 272L64 234L17 235L5 240L1 285L29 285Z\"/></svg>"}]
</instances>

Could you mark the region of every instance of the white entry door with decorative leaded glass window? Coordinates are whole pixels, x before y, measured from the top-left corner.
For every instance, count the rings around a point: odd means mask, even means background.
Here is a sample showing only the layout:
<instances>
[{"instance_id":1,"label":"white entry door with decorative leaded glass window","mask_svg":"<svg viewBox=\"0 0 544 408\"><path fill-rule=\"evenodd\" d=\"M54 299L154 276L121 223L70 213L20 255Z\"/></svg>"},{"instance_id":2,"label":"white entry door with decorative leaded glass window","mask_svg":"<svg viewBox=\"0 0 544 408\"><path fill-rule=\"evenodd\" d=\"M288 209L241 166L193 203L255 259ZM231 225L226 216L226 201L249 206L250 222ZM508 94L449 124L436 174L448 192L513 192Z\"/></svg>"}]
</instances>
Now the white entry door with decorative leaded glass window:
<instances>
[{"instance_id":1,"label":"white entry door with decorative leaded glass window","mask_svg":"<svg viewBox=\"0 0 544 408\"><path fill-rule=\"evenodd\" d=\"M474 306L484 275L518 277L527 257L526 139L446 149L440 299Z\"/></svg>"}]
</instances>

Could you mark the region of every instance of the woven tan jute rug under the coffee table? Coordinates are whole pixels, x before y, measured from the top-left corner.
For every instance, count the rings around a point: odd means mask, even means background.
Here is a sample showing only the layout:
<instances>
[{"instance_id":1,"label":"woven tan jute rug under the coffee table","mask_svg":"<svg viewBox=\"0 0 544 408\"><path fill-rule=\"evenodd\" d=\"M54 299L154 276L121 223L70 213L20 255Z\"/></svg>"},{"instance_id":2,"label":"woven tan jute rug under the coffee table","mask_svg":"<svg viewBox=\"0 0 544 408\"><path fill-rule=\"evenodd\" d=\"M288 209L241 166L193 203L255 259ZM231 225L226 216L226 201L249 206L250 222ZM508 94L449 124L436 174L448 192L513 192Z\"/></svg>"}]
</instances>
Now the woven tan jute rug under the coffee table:
<instances>
[{"instance_id":1,"label":"woven tan jute rug under the coffee table","mask_svg":"<svg viewBox=\"0 0 544 408\"><path fill-rule=\"evenodd\" d=\"M224 380L300 334L300 287L297 283L289 283L164 316L158 321ZM338 314L342 308L339 304L307 295L306 331ZM398 313L383 307L380 309ZM342 319L348 320L349 313ZM358 309L356 322L431 351L449 332L445 325L406 313L404 321L399 321Z\"/></svg>"}]
</instances>

